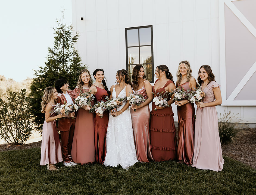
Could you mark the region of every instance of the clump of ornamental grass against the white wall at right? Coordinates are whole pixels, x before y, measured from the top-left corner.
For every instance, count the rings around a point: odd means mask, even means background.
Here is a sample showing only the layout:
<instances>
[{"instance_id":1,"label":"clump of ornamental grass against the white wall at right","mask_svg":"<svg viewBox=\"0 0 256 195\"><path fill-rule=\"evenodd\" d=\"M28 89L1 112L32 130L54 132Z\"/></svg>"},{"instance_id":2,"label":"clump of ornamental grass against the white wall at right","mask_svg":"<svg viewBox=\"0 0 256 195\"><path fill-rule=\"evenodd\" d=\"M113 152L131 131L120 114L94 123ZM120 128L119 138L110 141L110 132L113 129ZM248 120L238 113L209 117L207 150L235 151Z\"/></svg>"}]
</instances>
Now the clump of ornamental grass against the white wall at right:
<instances>
[{"instance_id":1,"label":"clump of ornamental grass against the white wall at right","mask_svg":"<svg viewBox=\"0 0 256 195\"><path fill-rule=\"evenodd\" d=\"M218 128L220 135L220 142L226 144L229 141L234 141L234 137L237 134L238 130L236 129L236 123L241 122L242 120L238 120L237 116L232 114L231 112L225 112L223 116L220 114Z\"/></svg>"}]
</instances>

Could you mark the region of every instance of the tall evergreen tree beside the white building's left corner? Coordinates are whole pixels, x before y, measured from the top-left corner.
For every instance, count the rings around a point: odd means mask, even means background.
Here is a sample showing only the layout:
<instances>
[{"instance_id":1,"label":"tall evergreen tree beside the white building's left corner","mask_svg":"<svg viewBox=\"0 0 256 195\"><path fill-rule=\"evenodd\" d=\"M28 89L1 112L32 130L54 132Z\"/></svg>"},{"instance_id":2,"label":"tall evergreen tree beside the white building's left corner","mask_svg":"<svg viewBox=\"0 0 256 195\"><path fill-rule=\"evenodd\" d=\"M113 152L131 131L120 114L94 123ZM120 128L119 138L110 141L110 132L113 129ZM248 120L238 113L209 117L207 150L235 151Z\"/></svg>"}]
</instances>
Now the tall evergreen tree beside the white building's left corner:
<instances>
[{"instance_id":1,"label":"tall evergreen tree beside the white building's left corner","mask_svg":"<svg viewBox=\"0 0 256 195\"><path fill-rule=\"evenodd\" d=\"M64 16L64 15L63 15ZM78 32L73 36L72 25L63 24L63 18L57 20L57 27L54 28L54 47L48 48L45 66L39 66L39 70L34 70L35 78L30 85L30 98L34 123L38 130L42 129L44 114L41 113L41 101L43 90L47 86L54 86L57 79L67 79L70 89L76 87L77 79L81 69L86 68L81 65L81 58L74 44L79 37Z\"/></svg>"}]
</instances>

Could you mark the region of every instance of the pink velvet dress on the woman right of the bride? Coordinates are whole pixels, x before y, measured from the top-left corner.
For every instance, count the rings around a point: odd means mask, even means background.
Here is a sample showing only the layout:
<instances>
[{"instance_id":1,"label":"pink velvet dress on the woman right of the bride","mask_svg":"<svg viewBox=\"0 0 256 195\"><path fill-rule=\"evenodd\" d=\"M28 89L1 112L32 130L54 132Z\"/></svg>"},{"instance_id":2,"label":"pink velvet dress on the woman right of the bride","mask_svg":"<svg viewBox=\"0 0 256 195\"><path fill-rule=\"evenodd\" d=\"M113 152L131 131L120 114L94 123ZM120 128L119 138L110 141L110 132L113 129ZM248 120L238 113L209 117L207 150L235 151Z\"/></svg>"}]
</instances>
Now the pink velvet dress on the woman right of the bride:
<instances>
[{"instance_id":1,"label":"pink velvet dress on the woman right of the bride","mask_svg":"<svg viewBox=\"0 0 256 195\"><path fill-rule=\"evenodd\" d=\"M144 81L145 83L145 81ZM134 94L140 94L146 100L148 99L145 86L137 91L133 90ZM136 109L136 112L130 108L132 116L132 128L136 147L137 159L140 162L149 163L149 160L154 160L151 154L151 144L149 135L149 105Z\"/></svg>"}]
</instances>

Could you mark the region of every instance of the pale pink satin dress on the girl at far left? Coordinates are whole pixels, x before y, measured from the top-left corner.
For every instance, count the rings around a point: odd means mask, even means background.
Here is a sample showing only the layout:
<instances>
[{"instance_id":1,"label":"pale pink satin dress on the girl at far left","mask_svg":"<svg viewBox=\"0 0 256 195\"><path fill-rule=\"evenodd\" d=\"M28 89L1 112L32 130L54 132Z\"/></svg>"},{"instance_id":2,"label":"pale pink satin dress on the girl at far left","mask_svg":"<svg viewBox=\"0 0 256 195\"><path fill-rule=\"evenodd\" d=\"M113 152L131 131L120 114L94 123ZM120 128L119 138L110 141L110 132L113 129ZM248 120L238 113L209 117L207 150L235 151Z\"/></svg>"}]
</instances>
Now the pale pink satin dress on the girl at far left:
<instances>
[{"instance_id":1,"label":"pale pink satin dress on the girl at far left","mask_svg":"<svg viewBox=\"0 0 256 195\"><path fill-rule=\"evenodd\" d=\"M54 107L55 105L52 105L52 111ZM56 116L56 113L51 112L50 117L54 116ZM44 121L40 165L56 164L62 161L60 138L56 127L56 120L51 122Z\"/></svg>"}]
</instances>

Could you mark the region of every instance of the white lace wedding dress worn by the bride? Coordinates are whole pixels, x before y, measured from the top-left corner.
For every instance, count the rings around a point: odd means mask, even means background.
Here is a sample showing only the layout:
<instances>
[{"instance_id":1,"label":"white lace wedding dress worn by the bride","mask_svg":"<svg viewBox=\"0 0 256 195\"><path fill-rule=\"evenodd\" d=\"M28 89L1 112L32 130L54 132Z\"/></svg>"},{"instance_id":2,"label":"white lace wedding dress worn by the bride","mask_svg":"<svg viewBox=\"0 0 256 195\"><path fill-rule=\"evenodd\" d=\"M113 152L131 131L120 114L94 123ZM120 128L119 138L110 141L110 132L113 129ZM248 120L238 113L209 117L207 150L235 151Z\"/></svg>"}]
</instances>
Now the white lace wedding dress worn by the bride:
<instances>
[{"instance_id":1,"label":"white lace wedding dress worn by the bride","mask_svg":"<svg viewBox=\"0 0 256 195\"><path fill-rule=\"evenodd\" d=\"M126 92L124 87L118 95L118 98L125 98L123 105L117 110L120 111L126 104ZM115 87L112 93L116 98ZM129 109L126 109L120 115L114 117L109 114L108 130L107 130L107 154L104 165L117 167L120 164L124 169L134 165L138 160L136 156L132 118Z\"/></svg>"}]
</instances>

